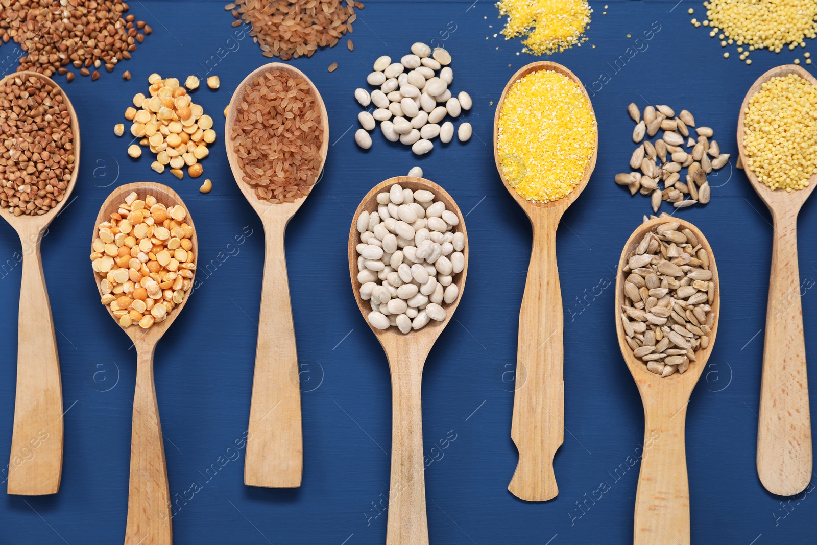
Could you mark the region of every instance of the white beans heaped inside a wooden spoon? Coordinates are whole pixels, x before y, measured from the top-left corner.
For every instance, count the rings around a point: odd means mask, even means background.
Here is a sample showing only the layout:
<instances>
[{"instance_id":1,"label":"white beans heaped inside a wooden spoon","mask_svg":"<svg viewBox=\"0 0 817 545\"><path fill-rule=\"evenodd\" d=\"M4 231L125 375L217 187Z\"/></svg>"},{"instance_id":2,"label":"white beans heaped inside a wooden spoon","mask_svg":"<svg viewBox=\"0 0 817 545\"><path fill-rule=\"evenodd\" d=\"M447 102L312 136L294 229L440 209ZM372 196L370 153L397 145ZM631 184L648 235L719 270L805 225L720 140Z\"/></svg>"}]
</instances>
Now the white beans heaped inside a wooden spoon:
<instances>
[{"instance_id":1,"label":"white beans heaped inside a wooden spoon","mask_svg":"<svg viewBox=\"0 0 817 545\"><path fill-rule=\"evenodd\" d=\"M443 305L459 295L453 276L465 268L458 224L431 191L398 184L377 194L377 212L360 213L358 281L360 297L372 306L372 327L408 333L445 319Z\"/></svg>"}]
</instances>

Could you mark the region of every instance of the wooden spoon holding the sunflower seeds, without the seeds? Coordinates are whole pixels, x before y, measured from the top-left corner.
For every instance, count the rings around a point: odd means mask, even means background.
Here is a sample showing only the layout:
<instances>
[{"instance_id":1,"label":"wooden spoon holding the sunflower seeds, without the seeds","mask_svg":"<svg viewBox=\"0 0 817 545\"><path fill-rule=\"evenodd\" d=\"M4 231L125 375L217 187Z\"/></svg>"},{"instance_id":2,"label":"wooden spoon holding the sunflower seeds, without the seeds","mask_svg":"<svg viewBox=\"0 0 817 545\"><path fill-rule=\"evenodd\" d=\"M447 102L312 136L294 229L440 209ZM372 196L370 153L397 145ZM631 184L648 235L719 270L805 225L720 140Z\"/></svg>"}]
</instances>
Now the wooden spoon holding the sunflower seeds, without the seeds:
<instances>
[{"instance_id":1,"label":"wooden spoon holding the sunflower seeds, without the seeds","mask_svg":"<svg viewBox=\"0 0 817 545\"><path fill-rule=\"evenodd\" d=\"M718 280L715 255L703 233L689 221L675 217L659 217L639 226L627 239L618 261L618 270L627 265L627 253L638 246L644 235L655 227L672 221L680 221L680 229L693 232L702 248L709 254L709 270L716 286L712 301L715 323L709 335L709 345L695 352L697 361L690 362L685 373L661 377L650 373L641 360L632 354L632 348L624 340L624 326L620 319L624 302L624 279L622 272L616 277L615 324L618 346L624 361L636 381L644 404L644 449L641 455L641 471L636 491L636 515L633 526L635 545L662 545L663 543L690 543L690 483L686 471L685 425L686 406L690 395L707 365L712 347L715 346L718 318L721 314L721 288Z\"/></svg>"}]
</instances>

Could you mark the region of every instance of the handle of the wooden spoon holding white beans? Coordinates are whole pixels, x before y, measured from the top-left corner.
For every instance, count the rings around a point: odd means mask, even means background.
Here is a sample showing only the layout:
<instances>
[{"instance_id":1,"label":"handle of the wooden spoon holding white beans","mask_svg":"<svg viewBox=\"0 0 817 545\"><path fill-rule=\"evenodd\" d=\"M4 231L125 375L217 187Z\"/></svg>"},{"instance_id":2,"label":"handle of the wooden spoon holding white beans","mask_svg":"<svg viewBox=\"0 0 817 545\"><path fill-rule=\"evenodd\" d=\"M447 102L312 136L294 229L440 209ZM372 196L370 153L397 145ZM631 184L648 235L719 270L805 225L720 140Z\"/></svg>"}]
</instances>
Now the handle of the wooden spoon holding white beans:
<instances>
[{"instance_id":1,"label":"handle of the wooden spoon holding white beans","mask_svg":"<svg viewBox=\"0 0 817 545\"><path fill-rule=\"evenodd\" d=\"M390 361L391 485L386 545L428 544L422 456L422 364Z\"/></svg>"}]
</instances>

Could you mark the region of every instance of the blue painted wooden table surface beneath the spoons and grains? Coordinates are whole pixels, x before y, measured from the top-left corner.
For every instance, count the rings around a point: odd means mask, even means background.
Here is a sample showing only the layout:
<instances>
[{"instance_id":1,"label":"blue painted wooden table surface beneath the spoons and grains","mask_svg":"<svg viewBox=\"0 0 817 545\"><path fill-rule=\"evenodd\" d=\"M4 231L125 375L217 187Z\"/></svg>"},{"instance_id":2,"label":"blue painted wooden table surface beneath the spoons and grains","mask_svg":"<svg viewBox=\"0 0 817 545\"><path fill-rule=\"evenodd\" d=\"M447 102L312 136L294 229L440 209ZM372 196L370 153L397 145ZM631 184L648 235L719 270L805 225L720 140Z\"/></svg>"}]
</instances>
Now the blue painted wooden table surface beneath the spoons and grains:
<instances>
[{"instance_id":1,"label":"blue painted wooden table surface beneath the spoons and grains","mask_svg":"<svg viewBox=\"0 0 817 545\"><path fill-rule=\"evenodd\" d=\"M454 320L431 351L423 382L426 497L431 543L596 544L632 539L643 439L641 400L615 340L612 286L624 241L649 213L649 199L613 182L627 169L632 121L626 106L690 109L713 127L732 160L712 176L712 202L678 212L707 235L721 273L721 327L692 395L687 425L692 540L723 545L815 543L817 500L779 498L755 470L763 328L770 269L770 217L734 168L738 109L752 82L794 53L724 60L708 29L690 25L690 0L592 2L590 38L551 56L586 83L599 122L596 171L565 214L557 237L565 310L565 444L556 454L559 496L525 503L507 492L516 467L511 407L517 320L528 267L529 223L499 181L491 146L496 101L507 79L535 57L505 41L493 2L368 2L344 39L292 61L319 87L329 113L322 181L289 225L287 258L301 363L304 476L300 489L243 485L264 235L226 163L221 110L234 87L267 59L237 38L224 0L131 2L154 29L114 74L66 86L83 136L76 199L42 242L60 351L65 462L59 494L0 495L0 543L122 543L127 511L135 358L99 303L88 260L93 221L116 185L160 181L181 194L199 232L197 288L158 345L156 389L175 516L175 543L384 543L391 448L386 359L359 315L346 260L351 212L377 182L418 164L467 213L471 266ZM602 15L606 11L606 15ZM646 38L649 33L650 39ZM628 36L629 35L629 36ZM638 39L636 39L638 38ZM466 145L417 159L373 133L353 138L373 60L399 58L413 42L444 42L457 91L474 107ZM0 47L4 70L15 44ZM795 51L801 56L803 50ZM806 51L817 51L809 42ZM10 60L11 59L11 60ZM328 73L333 62L338 68ZM132 80L120 75L129 69ZM112 135L147 77L217 74L221 89L195 101L216 120L219 140L203 161L212 179L178 181L150 170L150 154L127 156ZM65 78L57 78L65 83ZM817 209L800 221L806 351L817 358ZM20 243L0 222L0 462L11 444L20 289ZM812 373L812 377L815 373ZM817 392L812 380L811 391ZM811 398L814 404L815 397ZM0 481L4 482L5 477ZM0 486L0 492L4 489ZM813 490L810 486L808 491Z\"/></svg>"}]
</instances>

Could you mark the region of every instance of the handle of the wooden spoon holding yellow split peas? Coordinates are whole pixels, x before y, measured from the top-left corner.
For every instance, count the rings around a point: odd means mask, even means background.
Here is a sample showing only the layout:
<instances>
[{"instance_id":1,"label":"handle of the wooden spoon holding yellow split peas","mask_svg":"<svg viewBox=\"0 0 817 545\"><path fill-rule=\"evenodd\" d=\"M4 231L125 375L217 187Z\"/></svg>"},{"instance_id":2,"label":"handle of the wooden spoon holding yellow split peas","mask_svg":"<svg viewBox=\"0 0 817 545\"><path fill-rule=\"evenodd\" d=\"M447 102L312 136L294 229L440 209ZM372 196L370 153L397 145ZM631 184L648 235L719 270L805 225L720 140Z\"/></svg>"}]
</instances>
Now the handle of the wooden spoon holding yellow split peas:
<instances>
[{"instance_id":1,"label":"handle of the wooden spoon holding yellow split peas","mask_svg":"<svg viewBox=\"0 0 817 545\"><path fill-rule=\"evenodd\" d=\"M125 545L172 545L172 510L162 424L158 419L153 357L155 344L136 342L131 482L127 494Z\"/></svg>"}]
</instances>

